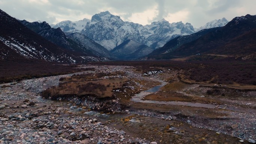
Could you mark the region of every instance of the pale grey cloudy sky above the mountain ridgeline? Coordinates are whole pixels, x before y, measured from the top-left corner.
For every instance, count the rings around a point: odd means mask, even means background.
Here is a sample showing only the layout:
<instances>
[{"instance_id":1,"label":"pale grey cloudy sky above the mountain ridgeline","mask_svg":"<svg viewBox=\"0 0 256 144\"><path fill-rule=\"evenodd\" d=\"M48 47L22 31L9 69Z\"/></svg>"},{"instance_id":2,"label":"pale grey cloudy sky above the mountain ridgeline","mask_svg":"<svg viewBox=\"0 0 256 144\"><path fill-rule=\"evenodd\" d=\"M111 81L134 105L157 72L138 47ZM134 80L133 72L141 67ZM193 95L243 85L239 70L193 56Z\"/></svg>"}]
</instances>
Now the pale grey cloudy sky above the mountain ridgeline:
<instances>
[{"instance_id":1,"label":"pale grey cloudy sky above the mountain ridgeline","mask_svg":"<svg viewBox=\"0 0 256 144\"><path fill-rule=\"evenodd\" d=\"M256 0L0 0L1 10L30 22L78 21L108 10L142 25L164 18L196 28L223 17L230 21L235 16L256 15L255 6Z\"/></svg>"}]
</instances>

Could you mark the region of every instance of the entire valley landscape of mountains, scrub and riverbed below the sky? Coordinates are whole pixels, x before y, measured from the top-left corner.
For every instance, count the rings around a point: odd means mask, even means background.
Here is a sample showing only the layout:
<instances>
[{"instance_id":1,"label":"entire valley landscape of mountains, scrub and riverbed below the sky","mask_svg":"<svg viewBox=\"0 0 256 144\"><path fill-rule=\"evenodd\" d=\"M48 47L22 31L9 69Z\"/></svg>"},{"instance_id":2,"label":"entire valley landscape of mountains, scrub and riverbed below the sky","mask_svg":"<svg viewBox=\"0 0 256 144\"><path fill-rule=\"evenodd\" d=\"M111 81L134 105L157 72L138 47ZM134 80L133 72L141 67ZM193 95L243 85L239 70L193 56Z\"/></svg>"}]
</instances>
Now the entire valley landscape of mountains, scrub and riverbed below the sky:
<instances>
[{"instance_id":1,"label":"entire valley landscape of mountains, scrub and riverbed below the sky","mask_svg":"<svg viewBox=\"0 0 256 144\"><path fill-rule=\"evenodd\" d=\"M0 30L1 144L256 143L256 15Z\"/></svg>"}]
</instances>

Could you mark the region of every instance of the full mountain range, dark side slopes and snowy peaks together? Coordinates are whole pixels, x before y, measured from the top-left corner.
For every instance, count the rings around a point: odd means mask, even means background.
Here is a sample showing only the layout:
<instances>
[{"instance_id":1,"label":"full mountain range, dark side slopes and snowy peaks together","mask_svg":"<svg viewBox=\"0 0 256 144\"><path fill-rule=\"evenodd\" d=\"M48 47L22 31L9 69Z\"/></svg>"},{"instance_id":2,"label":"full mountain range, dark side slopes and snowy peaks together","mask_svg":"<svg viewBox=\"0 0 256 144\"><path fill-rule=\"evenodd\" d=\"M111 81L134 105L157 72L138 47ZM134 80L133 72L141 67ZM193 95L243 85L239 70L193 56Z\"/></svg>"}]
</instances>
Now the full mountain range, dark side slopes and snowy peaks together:
<instances>
[{"instance_id":1,"label":"full mountain range, dark side slopes and snowy peaks together","mask_svg":"<svg viewBox=\"0 0 256 144\"><path fill-rule=\"evenodd\" d=\"M224 26L225 25L225 26ZM110 12L56 25L12 18L0 10L0 61L65 63L131 59L194 60L207 56L256 57L256 16L225 18L200 28L165 19L140 25Z\"/></svg>"}]
</instances>

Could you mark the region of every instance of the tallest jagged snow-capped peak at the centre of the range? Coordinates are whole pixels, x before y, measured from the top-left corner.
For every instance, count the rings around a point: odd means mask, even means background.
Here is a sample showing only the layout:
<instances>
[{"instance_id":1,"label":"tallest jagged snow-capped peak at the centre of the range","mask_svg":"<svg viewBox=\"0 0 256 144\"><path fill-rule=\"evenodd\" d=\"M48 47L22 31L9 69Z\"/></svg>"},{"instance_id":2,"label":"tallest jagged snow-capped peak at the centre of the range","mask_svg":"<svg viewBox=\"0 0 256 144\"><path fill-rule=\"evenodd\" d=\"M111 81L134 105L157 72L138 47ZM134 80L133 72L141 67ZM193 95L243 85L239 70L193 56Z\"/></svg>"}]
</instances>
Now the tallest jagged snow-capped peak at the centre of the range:
<instances>
[{"instance_id":1,"label":"tallest jagged snow-capped peak at the centre of the range","mask_svg":"<svg viewBox=\"0 0 256 144\"><path fill-rule=\"evenodd\" d=\"M144 42L144 37L140 35L139 28L142 25L133 22L124 22L119 16L112 15L110 12L101 12L92 16L82 30L82 34L112 50L125 40L134 39Z\"/></svg>"}]
</instances>

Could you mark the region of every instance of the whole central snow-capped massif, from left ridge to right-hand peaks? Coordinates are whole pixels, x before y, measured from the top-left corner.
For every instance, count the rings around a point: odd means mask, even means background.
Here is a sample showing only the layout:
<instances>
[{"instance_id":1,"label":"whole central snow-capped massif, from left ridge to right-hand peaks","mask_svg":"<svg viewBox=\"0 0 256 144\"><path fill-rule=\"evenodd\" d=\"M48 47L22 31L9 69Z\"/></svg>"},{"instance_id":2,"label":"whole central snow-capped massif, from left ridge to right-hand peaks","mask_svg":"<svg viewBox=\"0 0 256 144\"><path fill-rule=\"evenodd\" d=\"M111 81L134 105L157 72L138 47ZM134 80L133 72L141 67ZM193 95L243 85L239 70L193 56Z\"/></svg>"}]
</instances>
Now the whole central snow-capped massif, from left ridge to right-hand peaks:
<instances>
[{"instance_id":1,"label":"whole central snow-capped massif, from left ridge to right-hand peaks","mask_svg":"<svg viewBox=\"0 0 256 144\"><path fill-rule=\"evenodd\" d=\"M51 26L54 28L61 27L64 32L82 33L108 50L112 50L130 39L152 48L158 48L170 39L195 32L189 23L174 22L170 24L162 19L143 26L133 22L125 22L120 16L112 15L108 11L93 15L91 20L83 19L81 21L84 21L85 27L83 27L82 22L79 27L75 27L74 25L77 26L78 24L71 21L63 21Z\"/></svg>"}]
</instances>

